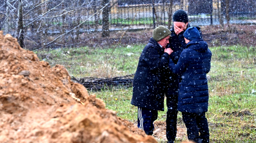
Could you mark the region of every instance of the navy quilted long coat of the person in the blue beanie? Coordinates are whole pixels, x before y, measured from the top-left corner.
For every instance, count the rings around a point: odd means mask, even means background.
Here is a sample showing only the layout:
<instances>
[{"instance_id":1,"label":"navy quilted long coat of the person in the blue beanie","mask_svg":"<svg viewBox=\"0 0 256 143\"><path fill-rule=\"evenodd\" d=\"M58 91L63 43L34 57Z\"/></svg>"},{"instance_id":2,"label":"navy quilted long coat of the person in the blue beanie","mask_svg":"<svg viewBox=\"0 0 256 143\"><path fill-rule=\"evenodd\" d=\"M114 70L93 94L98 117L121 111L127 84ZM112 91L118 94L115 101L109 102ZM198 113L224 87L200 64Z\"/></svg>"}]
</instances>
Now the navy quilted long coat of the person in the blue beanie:
<instances>
[{"instance_id":1,"label":"navy quilted long coat of the person in the blue beanie","mask_svg":"<svg viewBox=\"0 0 256 143\"><path fill-rule=\"evenodd\" d=\"M181 112L208 111L208 84L206 73L211 68L211 51L202 39L187 43L180 54L178 63L169 60L173 73L181 74L178 95L178 110Z\"/></svg>"}]
</instances>

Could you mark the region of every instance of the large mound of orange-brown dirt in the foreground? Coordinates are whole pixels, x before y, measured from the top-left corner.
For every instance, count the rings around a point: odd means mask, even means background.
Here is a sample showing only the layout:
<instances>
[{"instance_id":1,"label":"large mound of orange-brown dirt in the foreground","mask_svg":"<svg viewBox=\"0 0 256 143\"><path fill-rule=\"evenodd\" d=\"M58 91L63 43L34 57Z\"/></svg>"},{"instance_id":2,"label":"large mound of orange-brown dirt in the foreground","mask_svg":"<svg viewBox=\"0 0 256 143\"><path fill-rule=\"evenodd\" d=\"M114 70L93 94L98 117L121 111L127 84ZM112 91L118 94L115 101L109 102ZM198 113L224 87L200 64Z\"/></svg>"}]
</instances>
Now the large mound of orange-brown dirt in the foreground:
<instances>
[{"instance_id":1,"label":"large mound of orange-brown dirt in the foreground","mask_svg":"<svg viewBox=\"0 0 256 143\"><path fill-rule=\"evenodd\" d=\"M72 82L63 66L51 68L2 31L0 65L1 143L156 143Z\"/></svg>"}]
</instances>

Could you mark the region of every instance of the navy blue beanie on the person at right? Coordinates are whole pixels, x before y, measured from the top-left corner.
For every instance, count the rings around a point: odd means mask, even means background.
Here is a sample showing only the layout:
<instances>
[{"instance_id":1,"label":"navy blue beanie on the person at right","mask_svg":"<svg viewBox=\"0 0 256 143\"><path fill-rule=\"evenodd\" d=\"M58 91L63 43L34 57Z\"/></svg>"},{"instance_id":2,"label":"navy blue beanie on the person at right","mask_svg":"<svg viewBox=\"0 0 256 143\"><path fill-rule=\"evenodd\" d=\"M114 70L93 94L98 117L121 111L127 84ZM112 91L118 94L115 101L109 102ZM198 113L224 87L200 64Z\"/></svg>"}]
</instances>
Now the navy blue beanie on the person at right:
<instances>
[{"instance_id":1,"label":"navy blue beanie on the person at right","mask_svg":"<svg viewBox=\"0 0 256 143\"><path fill-rule=\"evenodd\" d=\"M200 27L189 27L184 32L184 37L188 40L199 40L201 39L200 33L199 33Z\"/></svg>"}]
</instances>

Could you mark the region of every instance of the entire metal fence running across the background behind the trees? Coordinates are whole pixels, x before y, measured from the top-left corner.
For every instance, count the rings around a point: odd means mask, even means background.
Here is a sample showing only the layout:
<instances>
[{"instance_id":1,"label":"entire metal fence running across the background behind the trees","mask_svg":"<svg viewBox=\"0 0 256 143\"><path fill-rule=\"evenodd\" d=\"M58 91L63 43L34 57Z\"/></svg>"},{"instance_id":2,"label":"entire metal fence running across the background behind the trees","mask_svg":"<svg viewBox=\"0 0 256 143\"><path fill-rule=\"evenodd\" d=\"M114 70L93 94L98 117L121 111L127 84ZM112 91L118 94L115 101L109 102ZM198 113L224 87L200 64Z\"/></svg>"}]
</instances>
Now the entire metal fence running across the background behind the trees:
<instances>
[{"instance_id":1,"label":"entire metal fence running across the background behind the trees","mask_svg":"<svg viewBox=\"0 0 256 143\"><path fill-rule=\"evenodd\" d=\"M200 6L200 4L197 3L191 4L189 3L189 0L182 0L182 2L177 1L178 0L174 0L174 3L172 4L172 13L170 15L171 18L175 11L177 11L178 9L183 9L188 13L188 19L191 25L219 25L219 11L222 11L221 16L224 19L224 23L227 22L225 20L226 12L225 10L223 10L223 7L221 7L220 0L202 0L205 1L203 6ZM109 13L110 30L118 31L121 29L128 28L154 28L157 25L168 26L168 12L170 10L170 4L167 2L169 1L164 0L162 3L154 4L155 11L153 10L153 4L119 5L118 3L111 2L111 9ZM91 17L100 8L100 6L88 6L85 12L81 11L79 21L81 22ZM231 24L256 23L256 11L248 10L243 12L236 12L231 8L229 11L229 16ZM73 24L79 23L79 21L68 23L70 20L72 21L72 17L67 16L65 18L55 18L52 21L49 21L47 24L49 26L54 25L56 23L61 23L61 26L57 31L56 29L53 31L48 30L48 33L60 33L61 31L63 31L63 27L64 29L66 29L66 31L68 31L68 29L70 29L69 27L72 27ZM102 13L96 14L93 17L89 18L87 22L85 22L83 25L79 27L80 33L87 31L102 31Z\"/></svg>"}]
</instances>

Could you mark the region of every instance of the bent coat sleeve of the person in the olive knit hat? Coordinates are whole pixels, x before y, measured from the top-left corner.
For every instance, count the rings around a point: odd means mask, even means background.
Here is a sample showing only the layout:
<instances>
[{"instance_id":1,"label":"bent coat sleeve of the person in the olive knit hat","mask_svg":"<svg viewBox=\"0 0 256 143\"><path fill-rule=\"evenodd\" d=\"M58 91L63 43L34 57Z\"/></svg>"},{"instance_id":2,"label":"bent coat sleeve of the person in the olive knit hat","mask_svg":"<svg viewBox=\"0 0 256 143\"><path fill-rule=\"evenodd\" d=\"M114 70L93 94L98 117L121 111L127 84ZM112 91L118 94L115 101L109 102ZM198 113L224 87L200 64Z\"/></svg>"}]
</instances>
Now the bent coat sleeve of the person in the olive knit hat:
<instances>
[{"instance_id":1,"label":"bent coat sleeve of the person in the olive knit hat","mask_svg":"<svg viewBox=\"0 0 256 143\"><path fill-rule=\"evenodd\" d=\"M160 55L154 48L148 48L145 52L144 61L150 67L150 70L161 70L164 66L168 66L169 54Z\"/></svg>"}]
</instances>

